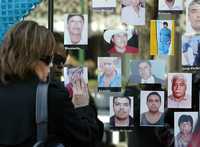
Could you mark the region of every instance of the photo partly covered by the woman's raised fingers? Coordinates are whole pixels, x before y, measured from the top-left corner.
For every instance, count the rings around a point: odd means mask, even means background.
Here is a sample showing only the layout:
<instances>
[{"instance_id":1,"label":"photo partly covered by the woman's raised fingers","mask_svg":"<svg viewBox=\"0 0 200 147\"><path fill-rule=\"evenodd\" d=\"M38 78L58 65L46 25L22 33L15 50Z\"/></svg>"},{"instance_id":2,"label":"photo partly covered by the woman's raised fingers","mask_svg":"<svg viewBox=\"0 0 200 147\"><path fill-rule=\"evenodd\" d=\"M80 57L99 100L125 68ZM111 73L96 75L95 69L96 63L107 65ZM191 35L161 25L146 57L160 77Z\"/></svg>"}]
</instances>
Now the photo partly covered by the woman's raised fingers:
<instances>
[{"instance_id":1,"label":"photo partly covered by the woman's raised fingers","mask_svg":"<svg viewBox=\"0 0 200 147\"><path fill-rule=\"evenodd\" d=\"M64 84L65 87L69 84L73 84L73 81L77 79L83 79L84 82L88 83L88 69L87 67L64 67Z\"/></svg>"}]
</instances>

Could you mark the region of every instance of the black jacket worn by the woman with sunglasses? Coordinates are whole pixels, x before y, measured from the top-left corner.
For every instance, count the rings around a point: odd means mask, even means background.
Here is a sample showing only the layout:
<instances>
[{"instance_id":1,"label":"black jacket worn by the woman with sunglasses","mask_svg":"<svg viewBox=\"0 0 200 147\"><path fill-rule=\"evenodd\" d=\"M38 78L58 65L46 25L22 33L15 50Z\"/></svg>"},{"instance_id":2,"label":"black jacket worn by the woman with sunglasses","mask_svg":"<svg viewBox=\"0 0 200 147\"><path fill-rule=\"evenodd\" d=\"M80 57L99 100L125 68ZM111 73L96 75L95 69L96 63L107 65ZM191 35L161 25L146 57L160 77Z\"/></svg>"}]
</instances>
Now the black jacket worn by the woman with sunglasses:
<instances>
[{"instance_id":1,"label":"black jacket worn by the woman with sunglasses","mask_svg":"<svg viewBox=\"0 0 200 147\"><path fill-rule=\"evenodd\" d=\"M35 99L38 80L0 85L0 147L29 147L35 143ZM70 147L95 147L103 134L92 106L74 109L61 82L48 89L48 136ZM3 146L4 147L4 146Z\"/></svg>"}]
</instances>

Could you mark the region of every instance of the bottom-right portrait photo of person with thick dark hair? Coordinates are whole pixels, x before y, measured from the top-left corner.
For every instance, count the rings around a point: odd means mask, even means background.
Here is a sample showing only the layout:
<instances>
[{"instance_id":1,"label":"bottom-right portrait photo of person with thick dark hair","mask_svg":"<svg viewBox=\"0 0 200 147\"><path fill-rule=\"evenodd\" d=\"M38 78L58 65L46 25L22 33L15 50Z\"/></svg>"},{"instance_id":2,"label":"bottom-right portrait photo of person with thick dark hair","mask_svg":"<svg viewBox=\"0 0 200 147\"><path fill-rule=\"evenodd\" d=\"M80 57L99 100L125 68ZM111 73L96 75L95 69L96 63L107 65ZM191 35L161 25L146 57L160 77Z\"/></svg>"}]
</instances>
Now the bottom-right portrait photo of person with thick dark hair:
<instances>
[{"instance_id":1,"label":"bottom-right portrait photo of person with thick dark hair","mask_svg":"<svg viewBox=\"0 0 200 147\"><path fill-rule=\"evenodd\" d=\"M174 147L187 147L198 119L198 112L174 112Z\"/></svg>"}]
</instances>

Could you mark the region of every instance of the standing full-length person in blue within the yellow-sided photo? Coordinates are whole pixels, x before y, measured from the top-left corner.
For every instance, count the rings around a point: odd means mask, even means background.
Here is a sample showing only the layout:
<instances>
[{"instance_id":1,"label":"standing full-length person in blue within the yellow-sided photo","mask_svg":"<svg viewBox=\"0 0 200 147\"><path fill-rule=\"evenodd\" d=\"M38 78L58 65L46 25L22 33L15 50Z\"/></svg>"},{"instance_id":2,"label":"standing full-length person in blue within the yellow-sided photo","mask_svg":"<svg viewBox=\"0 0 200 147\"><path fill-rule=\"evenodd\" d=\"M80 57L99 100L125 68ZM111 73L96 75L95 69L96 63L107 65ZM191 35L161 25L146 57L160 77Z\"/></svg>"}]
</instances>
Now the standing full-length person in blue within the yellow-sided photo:
<instances>
[{"instance_id":1,"label":"standing full-length person in blue within the yellow-sided photo","mask_svg":"<svg viewBox=\"0 0 200 147\"><path fill-rule=\"evenodd\" d=\"M160 24L162 23L162 27ZM167 55L169 54L170 45L171 45L171 29L167 21L158 21L158 48L159 54Z\"/></svg>"}]
</instances>

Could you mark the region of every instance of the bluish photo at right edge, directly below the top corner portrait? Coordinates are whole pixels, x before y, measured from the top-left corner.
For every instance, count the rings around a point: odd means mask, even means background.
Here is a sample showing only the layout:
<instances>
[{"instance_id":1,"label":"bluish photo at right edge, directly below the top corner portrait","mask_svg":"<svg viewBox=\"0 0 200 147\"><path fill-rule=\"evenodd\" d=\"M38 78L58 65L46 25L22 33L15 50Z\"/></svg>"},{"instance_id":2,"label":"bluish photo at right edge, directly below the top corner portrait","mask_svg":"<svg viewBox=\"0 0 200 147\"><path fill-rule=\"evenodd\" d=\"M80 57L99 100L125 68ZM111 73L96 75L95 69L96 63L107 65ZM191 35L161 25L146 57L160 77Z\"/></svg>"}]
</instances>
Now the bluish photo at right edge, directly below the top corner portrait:
<instances>
[{"instance_id":1,"label":"bluish photo at right edge, directly below the top corner portrait","mask_svg":"<svg viewBox=\"0 0 200 147\"><path fill-rule=\"evenodd\" d=\"M182 65L200 66L200 35L182 36Z\"/></svg>"}]
</instances>

